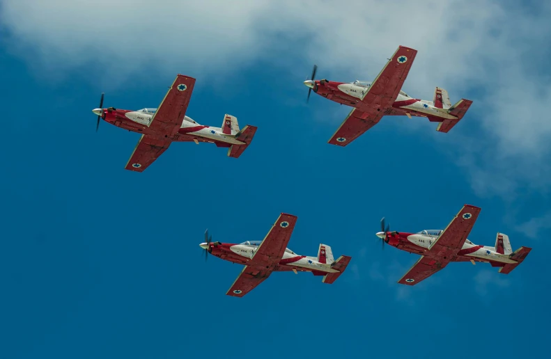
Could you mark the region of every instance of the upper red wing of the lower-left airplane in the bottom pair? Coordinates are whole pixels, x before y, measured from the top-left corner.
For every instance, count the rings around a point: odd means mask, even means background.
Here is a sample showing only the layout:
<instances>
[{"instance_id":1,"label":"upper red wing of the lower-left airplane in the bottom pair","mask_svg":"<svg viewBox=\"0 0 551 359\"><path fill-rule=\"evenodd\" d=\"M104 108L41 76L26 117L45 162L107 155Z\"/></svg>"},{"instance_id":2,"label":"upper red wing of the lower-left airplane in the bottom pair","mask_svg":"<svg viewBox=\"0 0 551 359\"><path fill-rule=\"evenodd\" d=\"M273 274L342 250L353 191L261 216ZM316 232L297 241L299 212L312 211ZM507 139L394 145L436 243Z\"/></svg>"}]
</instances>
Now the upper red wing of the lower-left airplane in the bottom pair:
<instances>
[{"instance_id":1,"label":"upper red wing of the lower-left airplane in the bottom pair","mask_svg":"<svg viewBox=\"0 0 551 359\"><path fill-rule=\"evenodd\" d=\"M252 258L254 262L260 262L265 266L277 264L283 257L285 248L287 248L295 223L297 223L297 216L280 214L256 253L254 253Z\"/></svg>"}]
</instances>

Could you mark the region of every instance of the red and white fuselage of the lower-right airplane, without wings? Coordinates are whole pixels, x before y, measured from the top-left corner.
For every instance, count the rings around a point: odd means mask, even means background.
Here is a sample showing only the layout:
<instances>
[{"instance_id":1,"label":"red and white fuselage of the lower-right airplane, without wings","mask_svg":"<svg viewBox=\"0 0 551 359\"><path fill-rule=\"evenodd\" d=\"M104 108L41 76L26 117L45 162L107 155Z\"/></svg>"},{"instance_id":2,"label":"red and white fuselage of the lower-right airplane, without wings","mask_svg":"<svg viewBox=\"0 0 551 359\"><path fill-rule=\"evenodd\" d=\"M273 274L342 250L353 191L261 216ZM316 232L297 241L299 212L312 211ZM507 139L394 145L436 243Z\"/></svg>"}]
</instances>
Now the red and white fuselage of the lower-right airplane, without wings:
<instances>
[{"instance_id":1,"label":"red and white fuselage of the lower-right airplane, without wings","mask_svg":"<svg viewBox=\"0 0 551 359\"><path fill-rule=\"evenodd\" d=\"M429 232L432 233L429 234ZM441 232L441 230L424 230L419 233L388 232L385 242L406 252L430 257L429 248L434 244ZM385 238L384 232L379 232L377 235L378 237ZM516 263L516 261L509 258L509 255L497 253L494 247L478 246L467 239L463 247L451 258L451 262L470 261Z\"/></svg>"}]
</instances>

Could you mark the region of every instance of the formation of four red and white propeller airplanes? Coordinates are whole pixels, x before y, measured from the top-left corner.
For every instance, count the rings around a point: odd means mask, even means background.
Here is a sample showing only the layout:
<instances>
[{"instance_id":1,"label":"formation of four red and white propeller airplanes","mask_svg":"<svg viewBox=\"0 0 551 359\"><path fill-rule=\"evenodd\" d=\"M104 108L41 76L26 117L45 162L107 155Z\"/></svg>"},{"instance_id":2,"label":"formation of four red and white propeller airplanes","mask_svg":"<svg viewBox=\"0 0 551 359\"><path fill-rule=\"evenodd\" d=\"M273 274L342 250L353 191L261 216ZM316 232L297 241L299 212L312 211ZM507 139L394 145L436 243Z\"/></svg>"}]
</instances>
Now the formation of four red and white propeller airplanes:
<instances>
[{"instance_id":1,"label":"formation of four red and white propeller airplanes","mask_svg":"<svg viewBox=\"0 0 551 359\"><path fill-rule=\"evenodd\" d=\"M436 129L440 132L448 132L463 118L472 104L468 99L460 99L451 105L448 93L443 88L436 88L433 101L414 99L401 90L416 54L417 50L398 47L372 82L315 80L317 67L314 65L311 79L304 81L309 87L308 99L313 90L334 102L352 106L352 111L329 139L329 143L344 147L371 129L385 115L425 117L431 122L437 122ZM178 74L158 109L103 109L102 94L99 108L93 109L93 113L98 115L96 131L102 119L116 127L141 134L125 166L127 170L142 172L173 142L215 143L217 147L227 147L228 157L235 158L247 149L256 127L247 125L240 129L237 118L228 114L224 115L222 127L199 125L186 115L194 84L194 78ZM499 273L513 271L531 248L520 247L513 252L509 237L502 233L497 234L494 247L473 244L467 235L479 212L479 207L465 205L445 230L417 233L391 232L383 218L381 232L376 234L382 239L383 248L389 244L421 255L398 283L416 285L443 269L449 262L488 262L498 267ZM341 255L335 261L331 247L326 244L320 244L317 257L297 255L287 248L296 221L296 216L281 214L263 241L245 241L241 244L215 242L205 232L205 242L200 244L205 250L205 258L210 253L223 260L245 265L226 293L228 296L245 296L274 271L309 271L314 276L323 276L322 281L329 284L341 276L351 257Z\"/></svg>"}]
</instances>

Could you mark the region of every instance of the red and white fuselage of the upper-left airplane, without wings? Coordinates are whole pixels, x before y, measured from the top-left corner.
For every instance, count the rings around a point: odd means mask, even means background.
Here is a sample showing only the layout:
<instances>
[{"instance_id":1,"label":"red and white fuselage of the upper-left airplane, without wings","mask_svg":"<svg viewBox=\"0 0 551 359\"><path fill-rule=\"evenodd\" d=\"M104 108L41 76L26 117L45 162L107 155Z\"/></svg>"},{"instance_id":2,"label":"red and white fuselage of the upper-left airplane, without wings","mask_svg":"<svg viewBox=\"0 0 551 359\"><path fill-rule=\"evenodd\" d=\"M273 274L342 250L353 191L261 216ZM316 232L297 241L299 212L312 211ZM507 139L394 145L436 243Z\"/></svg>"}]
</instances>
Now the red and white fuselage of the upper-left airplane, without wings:
<instances>
[{"instance_id":1,"label":"red and white fuselage of the upper-left airplane, without wings","mask_svg":"<svg viewBox=\"0 0 551 359\"><path fill-rule=\"evenodd\" d=\"M184 116L184 120L177 134L157 133L155 129L149 127L156 110L157 109L141 109L138 111L130 111L109 107L107 109L95 109L93 112L97 115L101 115L105 122L109 122L116 127L121 127L139 134L146 134L158 138L168 138L171 141L190 142L195 141L197 138L201 138L199 141L217 143L217 145L223 142L227 143L228 147L229 145L245 144L244 142L236 140L235 136L222 133L222 129L219 127L199 125L199 123L187 116Z\"/></svg>"}]
</instances>

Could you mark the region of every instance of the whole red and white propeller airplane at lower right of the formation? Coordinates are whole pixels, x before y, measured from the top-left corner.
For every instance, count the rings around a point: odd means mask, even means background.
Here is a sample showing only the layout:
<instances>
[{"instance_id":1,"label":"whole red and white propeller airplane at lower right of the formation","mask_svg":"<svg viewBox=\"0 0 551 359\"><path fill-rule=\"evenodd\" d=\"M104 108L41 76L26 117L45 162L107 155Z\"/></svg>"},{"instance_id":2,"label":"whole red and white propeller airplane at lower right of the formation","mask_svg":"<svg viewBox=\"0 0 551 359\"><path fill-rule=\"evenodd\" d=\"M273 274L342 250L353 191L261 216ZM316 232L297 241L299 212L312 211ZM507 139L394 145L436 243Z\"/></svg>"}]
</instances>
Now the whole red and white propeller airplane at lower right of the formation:
<instances>
[{"instance_id":1,"label":"whole red and white propeller airplane at lower right of the formation","mask_svg":"<svg viewBox=\"0 0 551 359\"><path fill-rule=\"evenodd\" d=\"M416 285L443 269L449 262L486 262L499 267L499 273L509 274L530 252L531 248L511 249L509 237L497 233L495 246L478 246L467 239L481 209L464 205L445 230L422 230L417 233L390 232L381 220L381 232L376 235L385 243L422 257L398 280L403 285Z\"/></svg>"}]
</instances>

